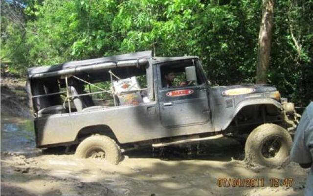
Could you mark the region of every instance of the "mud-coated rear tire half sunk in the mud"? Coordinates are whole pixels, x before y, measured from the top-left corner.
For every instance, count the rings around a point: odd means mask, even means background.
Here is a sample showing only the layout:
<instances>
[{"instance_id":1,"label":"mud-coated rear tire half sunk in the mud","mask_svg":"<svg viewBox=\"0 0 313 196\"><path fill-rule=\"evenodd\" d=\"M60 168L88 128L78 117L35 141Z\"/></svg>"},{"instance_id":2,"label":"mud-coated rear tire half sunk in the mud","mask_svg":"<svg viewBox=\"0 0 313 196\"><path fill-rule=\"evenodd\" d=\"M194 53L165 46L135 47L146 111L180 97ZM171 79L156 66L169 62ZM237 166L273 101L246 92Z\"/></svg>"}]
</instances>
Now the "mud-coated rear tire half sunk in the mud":
<instances>
[{"instance_id":1,"label":"mud-coated rear tire half sunk in the mud","mask_svg":"<svg viewBox=\"0 0 313 196\"><path fill-rule=\"evenodd\" d=\"M75 155L80 158L89 158L96 151L104 152L103 159L113 165L121 160L121 150L114 140L103 135L92 135L83 140L76 148Z\"/></svg>"}]
</instances>

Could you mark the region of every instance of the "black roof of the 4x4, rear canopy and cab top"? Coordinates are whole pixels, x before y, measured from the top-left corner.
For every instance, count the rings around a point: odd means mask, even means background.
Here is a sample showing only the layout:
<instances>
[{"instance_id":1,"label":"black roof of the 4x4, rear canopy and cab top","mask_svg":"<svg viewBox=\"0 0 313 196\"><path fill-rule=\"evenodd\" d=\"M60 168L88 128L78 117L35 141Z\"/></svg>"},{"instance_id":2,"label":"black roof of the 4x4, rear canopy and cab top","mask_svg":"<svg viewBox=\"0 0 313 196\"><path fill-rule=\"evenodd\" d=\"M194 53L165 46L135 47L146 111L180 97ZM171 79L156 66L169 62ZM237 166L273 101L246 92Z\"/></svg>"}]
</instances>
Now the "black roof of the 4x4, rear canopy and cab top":
<instances>
[{"instance_id":1,"label":"black roof of the 4x4, rear canopy and cab top","mask_svg":"<svg viewBox=\"0 0 313 196\"><path fill-rule=\"evenodd\" d=\"M110 57L102 57L95 59L87 59L80 61L70 61L62 64L52 65L52 66L42 66L42 67L33 67L29 68L27 73L28 76L34 74L42 74L42 73L51 73L57 72L61 70L67 70L70 68L80 68L84 66L96 66L97 64L110 63L110 62L120 62L120 61L128 61L128 60L138 60L138 59L149 59L152 58L154 63L162 63L166 61L176 61L176 60L184 60L184 59L192 59L198 58L196 56L182 56L182 57L152 57L152 51L140 51L129 54L115 55Z\"/></svg>"}]
</instances>

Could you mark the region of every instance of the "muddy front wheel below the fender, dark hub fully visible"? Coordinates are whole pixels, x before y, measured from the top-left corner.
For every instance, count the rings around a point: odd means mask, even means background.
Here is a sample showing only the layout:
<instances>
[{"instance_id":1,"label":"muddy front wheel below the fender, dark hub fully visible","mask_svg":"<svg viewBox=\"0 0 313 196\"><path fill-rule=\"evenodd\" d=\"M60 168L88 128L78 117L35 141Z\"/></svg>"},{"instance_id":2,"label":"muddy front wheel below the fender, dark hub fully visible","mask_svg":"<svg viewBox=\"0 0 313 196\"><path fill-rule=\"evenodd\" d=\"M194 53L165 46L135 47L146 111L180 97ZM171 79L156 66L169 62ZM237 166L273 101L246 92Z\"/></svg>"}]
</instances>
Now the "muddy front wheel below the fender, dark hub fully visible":
<instances>
[{"instance_id":1,"label":"muddy front wheel below the fender, dark hub fully visible","mask_svg":"<svg viewBox=\"0 0 313 196\"><path fill-rule=\"evenodd\" d=\"M292 138L277 124L262 124L248 136L245 146L246 164L281 167L289 160Z\"/></svg>"}]
</instances>

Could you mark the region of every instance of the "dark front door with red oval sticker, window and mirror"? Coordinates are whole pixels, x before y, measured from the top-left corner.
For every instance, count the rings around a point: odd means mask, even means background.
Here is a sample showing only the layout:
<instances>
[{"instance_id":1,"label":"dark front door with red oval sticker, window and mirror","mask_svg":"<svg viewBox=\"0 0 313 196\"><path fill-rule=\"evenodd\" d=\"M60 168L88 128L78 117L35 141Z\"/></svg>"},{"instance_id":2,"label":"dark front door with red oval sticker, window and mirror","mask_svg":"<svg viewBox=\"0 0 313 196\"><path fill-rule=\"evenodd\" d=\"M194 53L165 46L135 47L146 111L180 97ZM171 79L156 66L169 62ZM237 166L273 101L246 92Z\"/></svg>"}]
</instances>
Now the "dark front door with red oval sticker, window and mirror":
<instances>
[{"instance_id":1,"label":"dark front door with red oval sticker, window and mirror","mask_svg":"<svg viewBox=\"0 0 313 196\"><path fill-rule=\"evenodd\" d=\"M193 66L197 81L188 84L190 81L184 81L187 76L186 67ZM165 74L169 72L175 74L171 85L167 84L165 78ZM208 85L198 59L159 64L157 75L159 111L163 126L171 128L210 122Z\"/></svg>"}]
</instances>

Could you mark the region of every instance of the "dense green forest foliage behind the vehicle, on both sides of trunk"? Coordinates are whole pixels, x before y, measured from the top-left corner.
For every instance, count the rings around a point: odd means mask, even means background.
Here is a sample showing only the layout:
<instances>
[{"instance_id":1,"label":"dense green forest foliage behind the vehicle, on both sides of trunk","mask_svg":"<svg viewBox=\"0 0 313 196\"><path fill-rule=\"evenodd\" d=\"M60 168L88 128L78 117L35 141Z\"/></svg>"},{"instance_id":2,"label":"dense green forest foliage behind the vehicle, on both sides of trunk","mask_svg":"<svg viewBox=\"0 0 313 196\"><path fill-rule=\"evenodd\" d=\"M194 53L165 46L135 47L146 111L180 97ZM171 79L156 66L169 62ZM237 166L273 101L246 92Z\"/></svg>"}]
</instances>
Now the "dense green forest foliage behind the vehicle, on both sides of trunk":
<instances>
[{"instance_id":1,"label":"dense green forest foliage behind the vehicle, on both sides of trunk","mask_svg":"<svg viewBox=\"0 0 313 196\"><path fill-rule=\"evenodd\" d=\"M1 16L1 60L20 73L151 49L159 56L200 56L213 85L255 81L262 1L27 0L24 5L23 27ZM313 100L312 24L313 0L276 0L268 82L300 105Z\"/></svg>"}]
</instances>

